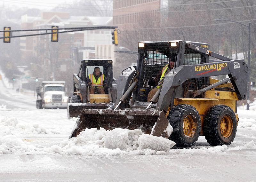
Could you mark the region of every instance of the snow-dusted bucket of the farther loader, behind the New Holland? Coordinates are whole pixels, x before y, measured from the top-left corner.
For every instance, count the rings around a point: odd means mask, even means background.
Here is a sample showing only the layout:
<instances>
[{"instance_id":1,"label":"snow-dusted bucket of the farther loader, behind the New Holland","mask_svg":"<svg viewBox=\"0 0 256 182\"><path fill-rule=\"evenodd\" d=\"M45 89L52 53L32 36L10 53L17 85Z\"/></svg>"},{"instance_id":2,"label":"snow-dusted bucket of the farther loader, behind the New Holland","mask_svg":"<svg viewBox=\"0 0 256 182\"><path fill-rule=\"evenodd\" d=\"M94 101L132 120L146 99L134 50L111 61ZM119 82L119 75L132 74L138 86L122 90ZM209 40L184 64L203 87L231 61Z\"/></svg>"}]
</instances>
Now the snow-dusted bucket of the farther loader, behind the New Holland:
<instances>
[{"instance_id":1,"label":"snow-dusted bucket of the farther loader, behind the New Holland","mask_svg":"<svg viewBox=\"0 0 256 182\"><path fill-rule=\"evenodd\" d=\"M83 109L106 109L108 103L68 103L68 119L78 117Z\"/></svg>"}]
</instances>

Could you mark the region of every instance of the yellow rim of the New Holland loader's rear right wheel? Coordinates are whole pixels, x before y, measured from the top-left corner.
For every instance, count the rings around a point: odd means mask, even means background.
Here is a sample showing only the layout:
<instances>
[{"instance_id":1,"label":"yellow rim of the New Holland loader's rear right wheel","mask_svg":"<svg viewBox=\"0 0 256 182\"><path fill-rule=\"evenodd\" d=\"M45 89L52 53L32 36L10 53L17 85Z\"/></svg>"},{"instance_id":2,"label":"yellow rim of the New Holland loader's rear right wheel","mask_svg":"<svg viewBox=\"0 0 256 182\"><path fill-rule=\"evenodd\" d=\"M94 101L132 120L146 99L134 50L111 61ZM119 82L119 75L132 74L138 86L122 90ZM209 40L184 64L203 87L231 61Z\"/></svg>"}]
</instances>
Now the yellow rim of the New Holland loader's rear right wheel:
<instances>
[{"instance_id":1,"label":"yellow rim of the New Holland loader's rear right wheel","mask_svg":"<svg viewBox=\"0 0 256 182\"><path fill-rule=\"evenodd\" d=\"M233 120L230 115L224 115L220 121L220 134L224 138L231 136L233 131Z\"/></svg>"}]
</instances>

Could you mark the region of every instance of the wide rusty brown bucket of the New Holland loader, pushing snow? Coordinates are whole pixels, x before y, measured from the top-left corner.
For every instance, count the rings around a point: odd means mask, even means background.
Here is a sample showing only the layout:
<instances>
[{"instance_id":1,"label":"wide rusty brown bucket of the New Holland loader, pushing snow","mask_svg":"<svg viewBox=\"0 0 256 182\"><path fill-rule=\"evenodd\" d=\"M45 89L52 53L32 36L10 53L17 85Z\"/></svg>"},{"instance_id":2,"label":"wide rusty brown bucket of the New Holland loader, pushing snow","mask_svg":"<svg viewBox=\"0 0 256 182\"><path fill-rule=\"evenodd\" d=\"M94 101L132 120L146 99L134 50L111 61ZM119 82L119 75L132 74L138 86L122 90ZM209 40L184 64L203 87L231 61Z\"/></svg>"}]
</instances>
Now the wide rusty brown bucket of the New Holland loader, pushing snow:
<instances>
[{"instance_id":1,"label":"wide rusty brown bucket of the New Holland loader, pushing snow","mask_svg":"<svg viewBox=\"0 0 256 182\"><path fill-rule=\"evenodd\" d=\"M168 124L163 111L84 109L80 113L69 138L76 137L86 128L104 128L105 130L113 130L114 128L141 129L145 134L150 134L154 125L152 134L162 136Z\"/></svg>"}]
</instances>

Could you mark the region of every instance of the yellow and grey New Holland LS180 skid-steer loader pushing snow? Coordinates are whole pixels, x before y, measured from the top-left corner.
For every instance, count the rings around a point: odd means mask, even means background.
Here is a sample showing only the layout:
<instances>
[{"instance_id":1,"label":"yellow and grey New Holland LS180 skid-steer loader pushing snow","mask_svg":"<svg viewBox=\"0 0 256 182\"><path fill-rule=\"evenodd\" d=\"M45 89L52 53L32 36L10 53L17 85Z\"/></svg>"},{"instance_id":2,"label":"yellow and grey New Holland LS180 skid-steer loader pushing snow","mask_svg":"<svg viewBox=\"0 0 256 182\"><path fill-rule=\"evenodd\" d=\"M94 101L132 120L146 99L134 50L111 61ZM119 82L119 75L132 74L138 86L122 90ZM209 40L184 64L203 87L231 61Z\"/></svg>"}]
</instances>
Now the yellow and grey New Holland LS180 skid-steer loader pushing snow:
<instances>
[{"instance_id":1,"label":"yellow and grey New Holland LS180 skid-steer loader pushing snow","mask_svg":"<svg viewBox=\"0 0 256 182\"><path fill-rule=\"evenodd\" d=\"M169 138L178 147L195 145L199 136L212 146L231 144L238 124L236 101L246 99L249 68L244 60L210 51L209 44L189 41L139 42L138 53L137 66L126 68L118 78L115 106L82 110L70 138L85 128L102 127L141 129ZM210 56L218 61L209 62ZM170 59L174 67L160 79L147 102L153 89L148 81ZM211 78L218 75L228 77Z\"/></svg>"}]
</instances>

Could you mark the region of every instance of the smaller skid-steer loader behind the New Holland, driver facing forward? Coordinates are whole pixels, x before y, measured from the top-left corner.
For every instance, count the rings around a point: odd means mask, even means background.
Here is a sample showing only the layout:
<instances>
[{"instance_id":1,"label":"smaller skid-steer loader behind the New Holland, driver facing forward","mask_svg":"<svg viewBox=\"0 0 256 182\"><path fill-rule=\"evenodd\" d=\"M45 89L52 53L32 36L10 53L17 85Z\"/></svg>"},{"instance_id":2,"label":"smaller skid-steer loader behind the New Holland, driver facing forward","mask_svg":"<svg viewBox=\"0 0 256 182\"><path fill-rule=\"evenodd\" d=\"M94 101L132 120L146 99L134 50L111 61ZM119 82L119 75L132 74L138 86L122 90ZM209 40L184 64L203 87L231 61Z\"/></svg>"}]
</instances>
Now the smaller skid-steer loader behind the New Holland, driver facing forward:
<instances>
[{"instance_id":1,"label":"smaller skid-steer loader behind the New Holland, driver facing forward","mask_svg":"<svg viewBox=\"0 0 256 182\"><path fill-rule=\"evenodd\" d=\"M104 94L96 88L90 94L90 78L94 68L98 67L104 75ZM101 78L99 78L101 79ZM84 59L77 74L73 75L74 95L69 96L68 118L77 117L83 109L104 109L116 101L116 83L113 79L112 60Z\"/></svg>"}]
</instances>

